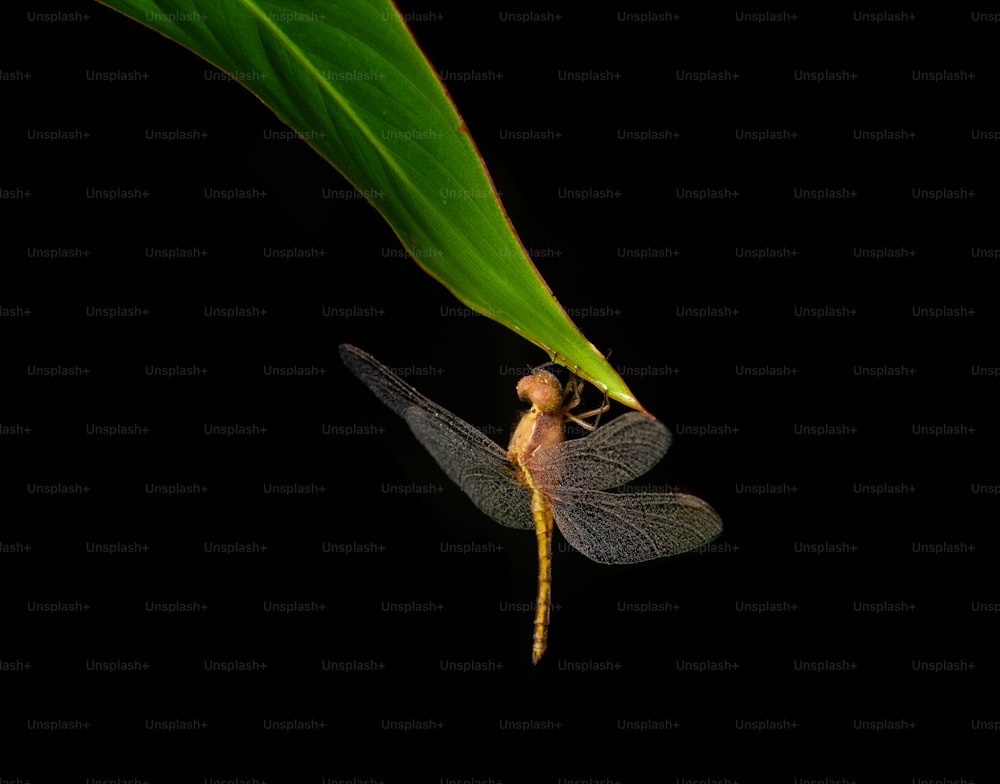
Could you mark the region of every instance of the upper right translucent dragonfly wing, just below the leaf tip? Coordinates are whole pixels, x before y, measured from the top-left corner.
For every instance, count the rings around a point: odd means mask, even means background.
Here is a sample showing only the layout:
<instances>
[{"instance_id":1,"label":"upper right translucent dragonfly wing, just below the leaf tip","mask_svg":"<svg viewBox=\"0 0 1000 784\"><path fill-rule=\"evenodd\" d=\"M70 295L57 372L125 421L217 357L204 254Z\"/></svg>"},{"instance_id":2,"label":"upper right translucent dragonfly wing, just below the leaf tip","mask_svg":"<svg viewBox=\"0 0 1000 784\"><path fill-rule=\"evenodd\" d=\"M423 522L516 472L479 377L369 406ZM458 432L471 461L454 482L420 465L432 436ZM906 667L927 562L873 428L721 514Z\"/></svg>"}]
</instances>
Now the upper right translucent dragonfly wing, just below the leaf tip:
<instances>
[{"instance_id":1,"label":"upper right translucent dragonfly wing, just below the leaf tip","mask_svg":"<svg viewBox=\"0 0 1000 784\"><path fill-rule=\"evenodd\" d=\"M670 447L660 420L633 411L574 438L539 451L532 474L558 477L573 487L607 490L631 482L655 466Z\"/></svg>"}]
</instances>

